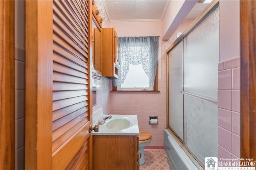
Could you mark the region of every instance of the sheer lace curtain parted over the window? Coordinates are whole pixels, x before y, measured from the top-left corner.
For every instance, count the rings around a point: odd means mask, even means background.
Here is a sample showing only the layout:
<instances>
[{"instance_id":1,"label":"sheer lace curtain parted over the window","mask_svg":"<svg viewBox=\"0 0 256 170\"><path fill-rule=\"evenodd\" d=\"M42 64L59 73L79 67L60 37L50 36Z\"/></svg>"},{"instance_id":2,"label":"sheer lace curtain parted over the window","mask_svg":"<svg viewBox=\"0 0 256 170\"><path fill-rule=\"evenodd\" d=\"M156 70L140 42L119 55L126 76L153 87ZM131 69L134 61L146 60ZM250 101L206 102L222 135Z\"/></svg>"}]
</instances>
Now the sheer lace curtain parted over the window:
<instances>
[{"instance_id":1,"label":"sheer lace curtain parted over the window","mask_svg":"<svg viewBox=\"0 0 256 170\"><path fill-rule=\"evenodd\" d=\"M129 64L142 67L147 74L150 84L154 85L158 64L158 36L119 37L120 68L118 79L113 80L114 86L119 86L126 79Z\"/></svg>"}]
</instances>

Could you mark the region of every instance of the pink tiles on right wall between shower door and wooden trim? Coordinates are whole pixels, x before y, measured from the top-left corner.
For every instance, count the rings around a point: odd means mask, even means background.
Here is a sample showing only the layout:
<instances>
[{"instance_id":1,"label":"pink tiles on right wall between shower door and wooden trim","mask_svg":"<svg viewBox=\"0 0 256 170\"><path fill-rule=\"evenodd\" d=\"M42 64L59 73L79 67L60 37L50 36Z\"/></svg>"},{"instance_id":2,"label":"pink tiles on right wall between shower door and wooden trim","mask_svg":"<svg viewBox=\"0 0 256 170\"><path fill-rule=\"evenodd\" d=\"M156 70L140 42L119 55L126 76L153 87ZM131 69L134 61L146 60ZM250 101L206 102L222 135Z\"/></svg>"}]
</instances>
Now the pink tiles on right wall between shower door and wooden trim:
<instances>
[{"instance_id":1,"label":"pink tiles on right wall between shower door and wooden trim","mask_svg":"<svg viewBox=\"0 0 256 170\"><path fill-rule=\"evenodd\" d=\"M218 158L240 157L240 61L218 66Z\"/></svg>"}]
</instances>

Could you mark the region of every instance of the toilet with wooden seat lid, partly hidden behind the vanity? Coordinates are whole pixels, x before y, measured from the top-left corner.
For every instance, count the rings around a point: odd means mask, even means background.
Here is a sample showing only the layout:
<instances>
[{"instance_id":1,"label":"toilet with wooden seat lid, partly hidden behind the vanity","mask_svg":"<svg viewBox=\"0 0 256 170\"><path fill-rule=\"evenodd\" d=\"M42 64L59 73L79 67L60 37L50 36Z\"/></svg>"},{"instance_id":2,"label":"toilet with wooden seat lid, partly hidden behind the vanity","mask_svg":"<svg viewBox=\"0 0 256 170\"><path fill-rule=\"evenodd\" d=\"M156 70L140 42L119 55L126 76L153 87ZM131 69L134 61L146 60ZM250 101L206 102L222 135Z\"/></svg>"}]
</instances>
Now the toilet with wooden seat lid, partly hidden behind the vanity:
<instances>
[{"instance_id":1,"label":"toilet with wooden seat lid, partly hidden behind the vanity","mask_svg":"<svg viewBox=\"0 0 256 170\"><path fill-rule=\"evenodd\" d=\"M145 163L144 147L148 146L151 140L152 140L152 135L149 132L140 131L140 135L139 135L139 151L141 153L140 165Z\"/></svg>"}]
</instances>

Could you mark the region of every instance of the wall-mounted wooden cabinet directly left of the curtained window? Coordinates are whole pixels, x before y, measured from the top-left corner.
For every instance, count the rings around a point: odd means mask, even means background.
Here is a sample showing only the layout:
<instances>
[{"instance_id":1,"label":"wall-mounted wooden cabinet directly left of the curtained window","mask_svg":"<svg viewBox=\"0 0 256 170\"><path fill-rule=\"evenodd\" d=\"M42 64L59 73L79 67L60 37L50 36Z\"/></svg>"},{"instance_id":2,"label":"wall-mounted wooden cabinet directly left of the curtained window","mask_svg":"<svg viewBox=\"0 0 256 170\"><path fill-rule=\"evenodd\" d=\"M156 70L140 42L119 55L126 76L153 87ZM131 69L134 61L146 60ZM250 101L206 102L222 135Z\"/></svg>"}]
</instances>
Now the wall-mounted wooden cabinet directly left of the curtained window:
<instances>
[{"instance_id":1,"label":"wall-mounted wooden cabinet directly left of the curtained window","mask_svg":"<svg viewBox=\"0 0 256 170\"><path fill-rule=\"evenodd\" d=\"M114 28L102 28L102 76L118 78L119 41Z\"/></svg>"}]
</instances>

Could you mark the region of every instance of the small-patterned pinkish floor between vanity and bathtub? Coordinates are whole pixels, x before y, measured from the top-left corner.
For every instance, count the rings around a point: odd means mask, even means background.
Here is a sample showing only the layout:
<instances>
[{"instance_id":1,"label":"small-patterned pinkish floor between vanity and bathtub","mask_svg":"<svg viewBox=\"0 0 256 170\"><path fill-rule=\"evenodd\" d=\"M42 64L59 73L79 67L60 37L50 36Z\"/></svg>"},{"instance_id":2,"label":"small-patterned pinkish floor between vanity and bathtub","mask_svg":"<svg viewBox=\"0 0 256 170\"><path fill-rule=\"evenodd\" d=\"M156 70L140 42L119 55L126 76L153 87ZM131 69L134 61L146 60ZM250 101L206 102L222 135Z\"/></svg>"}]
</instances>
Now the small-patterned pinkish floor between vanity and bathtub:
<instances>
[{"instance_id":1,"label":"small-patterned pinkish floor between vanity and bathtub","mask_svg":"<svg viewBox=\"0 0 256 170\"><path fill-rule=\"evenodd\" d=\"M145 163L140 170L170 170L167 156L163 149L144 149Z\"/></svg>"}]
</instances>

